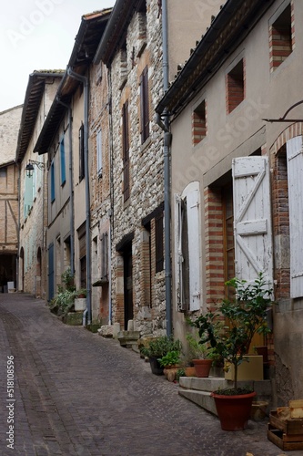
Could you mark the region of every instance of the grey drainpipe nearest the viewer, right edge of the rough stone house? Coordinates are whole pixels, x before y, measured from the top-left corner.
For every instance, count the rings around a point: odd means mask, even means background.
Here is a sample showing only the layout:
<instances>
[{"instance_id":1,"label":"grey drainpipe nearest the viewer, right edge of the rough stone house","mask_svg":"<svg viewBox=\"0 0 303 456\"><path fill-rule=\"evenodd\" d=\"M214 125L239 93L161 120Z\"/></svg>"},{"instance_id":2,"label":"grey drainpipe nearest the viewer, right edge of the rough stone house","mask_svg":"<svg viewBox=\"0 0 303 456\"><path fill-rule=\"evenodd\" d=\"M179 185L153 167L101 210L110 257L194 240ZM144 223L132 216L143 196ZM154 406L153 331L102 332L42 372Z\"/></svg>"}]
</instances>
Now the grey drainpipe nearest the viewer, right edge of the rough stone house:
<instances>
[{"instance_id":1,"label":"grey drainpipe nearest the viewer, right edge of the rough stone house","mask_svg":"<svg viewBox=\"0 0 303 456\"><path fill-rule=\"evenodd\" d=\"M167 92L168 80L168 26L167 26L167 0L162 0L162 49L163 49L163 89ZM170 143L169 117L164 111L164 122L157 115L157 124L164 130L164 237L165 237L165 275L166 275L166 311L167 311L167 336L172 334L172 309L171 309L171 258L170 258Z\"/></svg>"}]
</instances>

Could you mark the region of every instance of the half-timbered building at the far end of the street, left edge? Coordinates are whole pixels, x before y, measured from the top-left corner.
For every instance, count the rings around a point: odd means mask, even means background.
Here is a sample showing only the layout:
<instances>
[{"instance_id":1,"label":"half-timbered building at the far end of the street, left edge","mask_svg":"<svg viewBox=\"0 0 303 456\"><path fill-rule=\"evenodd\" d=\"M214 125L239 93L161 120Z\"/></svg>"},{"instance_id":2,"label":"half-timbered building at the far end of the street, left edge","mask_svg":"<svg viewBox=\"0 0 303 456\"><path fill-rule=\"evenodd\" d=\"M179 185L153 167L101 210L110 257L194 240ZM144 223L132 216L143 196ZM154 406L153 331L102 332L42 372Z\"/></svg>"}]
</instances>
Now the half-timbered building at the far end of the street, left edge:
<instances>
[{"instance_id":1,"label":"half-timbered building at the far end of the street, left edge","mask_svg":"<svg viewBox=\"0 0 303 456\"><path fill-rule=\"evenodd\" d=\"M17 131L22 106L0 113L0 292L17 283L18 167L15 165Z\"/></svg>"}]
</instances>

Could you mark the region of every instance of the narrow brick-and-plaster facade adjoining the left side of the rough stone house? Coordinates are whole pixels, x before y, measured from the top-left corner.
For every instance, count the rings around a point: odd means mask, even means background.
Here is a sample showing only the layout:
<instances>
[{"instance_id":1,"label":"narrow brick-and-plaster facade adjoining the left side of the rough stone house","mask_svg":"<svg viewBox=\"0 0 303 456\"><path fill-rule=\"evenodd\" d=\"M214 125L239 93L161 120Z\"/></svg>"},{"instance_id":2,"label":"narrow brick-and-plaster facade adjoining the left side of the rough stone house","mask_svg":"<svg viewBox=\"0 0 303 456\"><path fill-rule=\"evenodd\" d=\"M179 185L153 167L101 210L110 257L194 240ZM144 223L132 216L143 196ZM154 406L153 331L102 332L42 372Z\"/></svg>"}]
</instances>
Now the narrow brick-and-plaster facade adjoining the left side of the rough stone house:
<instances>
[{"instance_id":1,"label":"narrow brick-and-plaster facade adjoining the left side of the rough stone house","mask_svg":"<svg viewBox=\"0 0 303 456\"><path fill-rule=\"evenodd\" d=\"M101 325L112 322L110 115L108 71L100 62L90 71L89 151L92 261L92 314Z\"/></svg>"}]
</instances>

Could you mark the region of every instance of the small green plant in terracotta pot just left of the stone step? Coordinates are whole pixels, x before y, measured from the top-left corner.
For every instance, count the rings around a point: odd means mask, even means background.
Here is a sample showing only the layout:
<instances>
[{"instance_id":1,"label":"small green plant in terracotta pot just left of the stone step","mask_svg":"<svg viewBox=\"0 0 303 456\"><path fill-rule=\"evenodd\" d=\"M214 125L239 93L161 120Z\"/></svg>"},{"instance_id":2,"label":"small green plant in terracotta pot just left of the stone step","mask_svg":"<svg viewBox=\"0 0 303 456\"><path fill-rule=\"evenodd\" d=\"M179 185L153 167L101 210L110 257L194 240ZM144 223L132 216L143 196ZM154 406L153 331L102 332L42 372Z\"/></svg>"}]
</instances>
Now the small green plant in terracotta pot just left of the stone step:
<instances>
[{"instance_id":1,"label":"small green plant in terracotta pot just left of the stone step","mask_svg":"<svg viewBox=\"0 0 303 456\"><path fill-rule=\"evenodd\" d=\"M197 334L187 334L188 358L194 365L196 376L206 378L209 376L212 359L208 358L208 348L205 343L201 343Z\"/></svg>"}]
</instances>

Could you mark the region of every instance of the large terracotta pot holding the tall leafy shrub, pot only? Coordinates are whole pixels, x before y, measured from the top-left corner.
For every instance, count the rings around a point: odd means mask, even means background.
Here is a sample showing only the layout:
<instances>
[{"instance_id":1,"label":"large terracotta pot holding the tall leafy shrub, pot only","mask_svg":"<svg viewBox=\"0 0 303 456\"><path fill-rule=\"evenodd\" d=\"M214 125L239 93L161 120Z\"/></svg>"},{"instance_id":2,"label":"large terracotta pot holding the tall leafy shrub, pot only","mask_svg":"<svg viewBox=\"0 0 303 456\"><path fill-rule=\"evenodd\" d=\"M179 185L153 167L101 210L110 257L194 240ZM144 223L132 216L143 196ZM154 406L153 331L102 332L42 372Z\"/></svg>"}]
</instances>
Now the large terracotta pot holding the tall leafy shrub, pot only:
<instances>
[{"instance_id":1,"label":"large terracotta pot holding the tall leafy shrub, pot only","mask_svg":"<svg viewBox=\"0 0 303 456\"><path fill-rule=\"evenodd\" d=\"M211 393L215 399L217 416L223 430L245 430L250 418L252 401L256 392L240 394L238 396L225 396Z\"/></svg>"}]
</instances>

